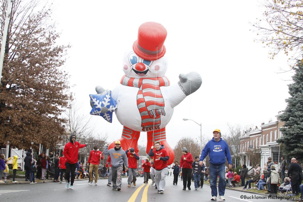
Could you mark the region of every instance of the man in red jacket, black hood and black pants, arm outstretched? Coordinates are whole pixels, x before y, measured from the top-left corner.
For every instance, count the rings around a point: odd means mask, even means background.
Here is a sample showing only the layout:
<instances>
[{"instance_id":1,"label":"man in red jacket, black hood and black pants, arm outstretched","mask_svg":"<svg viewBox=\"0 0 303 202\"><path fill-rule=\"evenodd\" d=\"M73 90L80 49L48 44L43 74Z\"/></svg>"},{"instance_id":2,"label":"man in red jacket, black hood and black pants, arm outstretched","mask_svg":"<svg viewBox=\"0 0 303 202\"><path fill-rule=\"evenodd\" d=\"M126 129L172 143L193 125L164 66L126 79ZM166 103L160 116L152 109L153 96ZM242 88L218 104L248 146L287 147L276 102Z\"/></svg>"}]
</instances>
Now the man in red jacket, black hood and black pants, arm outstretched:
<instances>
[{"instance_id":1,"label":"man in red jacket, black hood and black pants, arm outstretched","mask_svg":"<svg viewBox=\"0 0 303 202\"><path fill-rule=\"evenodd\" d=\"M80 148L86 147L86 144L80 144L79 142L76 142L76 136L71 135L69 137L68 143L65 144L63 154L66 157L66 174L65 178L67 179L67 184L65 186L66 189L70 188L73 189L73 184L75 180L75 170L77 168L77 163L78 163L78 152ZM71 179L69 179L69 173L71 173ZM69 185L71 185L69 187Z\"/></svg>"}]
</instances>

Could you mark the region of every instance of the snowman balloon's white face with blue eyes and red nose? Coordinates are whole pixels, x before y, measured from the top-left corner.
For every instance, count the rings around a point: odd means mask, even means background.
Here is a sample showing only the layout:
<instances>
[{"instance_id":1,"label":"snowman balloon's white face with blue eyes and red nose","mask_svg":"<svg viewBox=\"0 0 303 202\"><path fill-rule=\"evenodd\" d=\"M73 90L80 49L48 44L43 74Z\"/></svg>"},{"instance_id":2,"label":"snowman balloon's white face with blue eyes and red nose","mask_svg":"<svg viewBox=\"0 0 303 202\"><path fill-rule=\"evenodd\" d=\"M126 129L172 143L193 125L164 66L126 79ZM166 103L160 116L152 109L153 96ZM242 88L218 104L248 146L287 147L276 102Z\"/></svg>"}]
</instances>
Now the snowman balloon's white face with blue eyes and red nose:
<instances>
[{"instance_id":1,"label":"snowman balloon's white face with blue eyes and red nose","mask_svg":"<svg viewBox=\"0 0 303 202\"><path fill-rule=\"evenodd\" d=\"M165 56L158 60L145 60L140 58L134 51L124 55L123 71L126 76L133 78L151 78L164 76L167 70Z\"/></svg>"}]
</instances>

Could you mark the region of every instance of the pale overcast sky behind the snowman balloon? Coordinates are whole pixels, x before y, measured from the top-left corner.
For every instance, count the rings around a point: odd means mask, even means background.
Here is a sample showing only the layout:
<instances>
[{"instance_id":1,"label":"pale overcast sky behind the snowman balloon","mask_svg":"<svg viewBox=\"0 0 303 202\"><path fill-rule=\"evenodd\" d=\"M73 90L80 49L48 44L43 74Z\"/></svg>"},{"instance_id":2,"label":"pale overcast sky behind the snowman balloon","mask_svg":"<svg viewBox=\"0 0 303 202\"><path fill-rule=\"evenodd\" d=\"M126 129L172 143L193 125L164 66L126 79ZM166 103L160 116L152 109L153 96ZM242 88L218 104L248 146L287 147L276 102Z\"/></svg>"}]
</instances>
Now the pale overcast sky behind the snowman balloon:
<instances>
[{"instance_id":1,"label":"pale overcast sky behind the snowman balloon","mask_svg":"<svg viewBox=\"0 0 303 202\"><path fill-rule=\"evenodd\" d=\"M70 44L64 67L74 85L75 99L88 117L88 94L95 86L113 90L124 72L123 55L137 39L138 27L148 21L167 29L168 56L166 76L178 82L180 73L197 71L202 77L198 91L175 107L166 126L167 141L174 147L182 136L212 136L215 128L227 133L227 123L242 126L275 121L289 97L287 56L268 58L268 48L254 42L249 31L263 8L257 1L54 1L53 19L61 38ZM116 116L110 124L94 116L96 132L109 135L108 141L121 137L122 125ZM139 144L146 144L141 133Z\"/></svg>"}]
</instances>

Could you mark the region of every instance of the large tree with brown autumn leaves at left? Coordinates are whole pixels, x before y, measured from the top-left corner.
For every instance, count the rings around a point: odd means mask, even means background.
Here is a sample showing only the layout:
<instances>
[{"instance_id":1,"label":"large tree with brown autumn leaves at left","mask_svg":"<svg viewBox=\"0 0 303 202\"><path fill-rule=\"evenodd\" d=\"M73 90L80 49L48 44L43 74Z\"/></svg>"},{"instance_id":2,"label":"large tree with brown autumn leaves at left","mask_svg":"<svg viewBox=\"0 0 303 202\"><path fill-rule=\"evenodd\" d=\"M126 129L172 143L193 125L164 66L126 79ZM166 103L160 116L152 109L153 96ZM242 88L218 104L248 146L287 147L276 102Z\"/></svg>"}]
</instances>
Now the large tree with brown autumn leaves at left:
<instances>
[{"instance_id":1,"label":"large tree with brown autumn leaves at left","mask_svg":"<svg viewBox=\"0 0 303 202\"><path fill-rule=\"evenodd\" d=\"M9 141L18 148L56 144L64 132L64 120L58 117L70 99L68 75L60 70L68 47L55 44L59 34L51 22L51 10L38 8L38 3L12 3L5 45L0 143ZM2 40L7 1L2 0L1 4Z\"/></svg>"}]
</instances>

